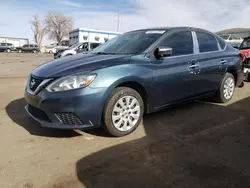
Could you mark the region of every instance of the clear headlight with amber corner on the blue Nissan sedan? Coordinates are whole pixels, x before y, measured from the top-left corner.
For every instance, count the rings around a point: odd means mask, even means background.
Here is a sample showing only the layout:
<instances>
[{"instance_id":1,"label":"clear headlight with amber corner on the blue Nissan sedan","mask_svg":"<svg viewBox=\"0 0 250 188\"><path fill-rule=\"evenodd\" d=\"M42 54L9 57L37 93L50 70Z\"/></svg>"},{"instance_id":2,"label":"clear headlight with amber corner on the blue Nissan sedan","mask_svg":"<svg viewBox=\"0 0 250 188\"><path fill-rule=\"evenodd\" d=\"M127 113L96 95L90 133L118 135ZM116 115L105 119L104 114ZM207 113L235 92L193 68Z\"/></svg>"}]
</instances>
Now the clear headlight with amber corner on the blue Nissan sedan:
<instances>
[{"instance_id":1,"label":"clear headlight with amber corner on the blue Nissan sedan","mask_svg":"<svg viewBox=\"0 0 250 188\"><path fill-rule=\"evenodd\" d=\"M62 77L52 82L46 90L49 92L56 92L84 88L87 87L95 79L95 77L95 74Z\"/></svg>"}]
</instances>

